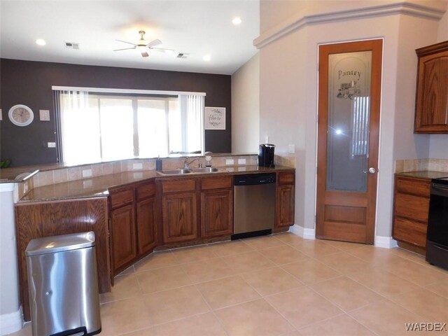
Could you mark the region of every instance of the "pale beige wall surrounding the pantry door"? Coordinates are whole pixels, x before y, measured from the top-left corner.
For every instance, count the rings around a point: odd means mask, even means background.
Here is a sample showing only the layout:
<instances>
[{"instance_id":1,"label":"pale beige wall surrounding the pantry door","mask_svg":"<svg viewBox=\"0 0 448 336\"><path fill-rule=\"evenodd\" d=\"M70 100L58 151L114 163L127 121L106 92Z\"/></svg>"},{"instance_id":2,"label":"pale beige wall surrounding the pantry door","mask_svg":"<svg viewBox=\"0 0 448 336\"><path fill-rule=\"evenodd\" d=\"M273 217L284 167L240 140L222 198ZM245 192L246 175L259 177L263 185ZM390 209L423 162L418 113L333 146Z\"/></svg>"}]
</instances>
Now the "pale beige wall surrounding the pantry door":
<instances>
[{"instance_id":1,"label":"pale beige wall surrounding the pantry door","mask_svg":"<svg viewBox=\"0 0 448 336\"><path fill-rule=\"evenodd\" d=\"M367 3L331 2L332 6L339 5L339 11ZM279 3L279 10L276 10L276 3ZM301 5L304 3L301 1ZM287 9L288 5L290 10ZM255 44L261 46L260 138L269 135L269 141L276 144L279 153L286 152L288 144L295 144L295 223L302 228L314 228L318 44L384 38L376 234L390 237L395 156L418 158L418 155L423 155L426 158L429 155L428 136L427 139L417 139L418 136L414 137L413 134L416 79L414 49L435 42L437 20L395 12L360 19L325 20L307 25L303 24L301 17L301 13L304 13L302 7L298 14L294 13L297 6L297 1L260 3L262 34L255 40ZM311 8L314 14L317 14L316 8L318 6ZM289 17L283 23L276 20L276 15L283 15L284 18L286 13L289 13ZM265 25L265 22L269 22L272 27ZM296 25L293 27L291 22L296 22ZM398 132L397 139L395 132Z\"/></svg>"}]
</instances>

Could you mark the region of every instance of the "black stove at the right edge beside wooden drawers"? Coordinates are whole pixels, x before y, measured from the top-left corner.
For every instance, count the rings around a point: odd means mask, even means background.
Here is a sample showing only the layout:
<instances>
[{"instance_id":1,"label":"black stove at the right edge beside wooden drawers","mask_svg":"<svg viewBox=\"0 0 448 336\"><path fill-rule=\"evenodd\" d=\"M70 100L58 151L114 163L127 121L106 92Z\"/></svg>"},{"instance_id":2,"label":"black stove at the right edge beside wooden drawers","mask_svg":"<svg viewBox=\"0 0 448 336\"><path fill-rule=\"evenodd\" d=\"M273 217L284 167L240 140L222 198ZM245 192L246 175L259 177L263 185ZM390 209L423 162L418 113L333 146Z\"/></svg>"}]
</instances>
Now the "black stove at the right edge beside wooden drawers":
<instances>
[{"instance_id":1,"label":"black stove at the right edge beside wooden drawers","mask_svg":"<svg viewBox=\"0 0 448 336\"><path fill-rule=\"evenodd\" d=\"M431 180L426 261L448 270L448 177Z\"/></svg>"}]
</instances>

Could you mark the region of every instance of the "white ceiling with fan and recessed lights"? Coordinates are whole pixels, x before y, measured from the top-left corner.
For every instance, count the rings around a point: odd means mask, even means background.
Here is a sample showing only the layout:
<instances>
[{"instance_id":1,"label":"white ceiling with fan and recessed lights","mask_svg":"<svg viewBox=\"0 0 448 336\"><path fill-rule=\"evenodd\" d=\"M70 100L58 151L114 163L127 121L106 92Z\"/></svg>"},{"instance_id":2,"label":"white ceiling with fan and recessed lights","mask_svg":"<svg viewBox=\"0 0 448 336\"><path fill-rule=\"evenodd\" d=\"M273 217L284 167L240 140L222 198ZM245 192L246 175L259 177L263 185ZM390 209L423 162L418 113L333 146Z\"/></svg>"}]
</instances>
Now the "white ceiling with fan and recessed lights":
<instances>
[{"instance_id":1,"label":"white ceiling with fan and recessed lights","mask_svg":"<svg viewBox=\"0 0 448 336\"><path fill-rule=\"evenodd\" d=\"M259 13L258 0L0 0L0 57L230 75L257 52ZM235 16L241 25L232 25ZM175 52L141 57L137 50L113 51L130 46L116 39L137 41L139 30ZM37 45L37 38L47 44ZM176 58L179 52L190 55ZM209 62L202 59L206 54Z\"/></svg>"}]
</instances>

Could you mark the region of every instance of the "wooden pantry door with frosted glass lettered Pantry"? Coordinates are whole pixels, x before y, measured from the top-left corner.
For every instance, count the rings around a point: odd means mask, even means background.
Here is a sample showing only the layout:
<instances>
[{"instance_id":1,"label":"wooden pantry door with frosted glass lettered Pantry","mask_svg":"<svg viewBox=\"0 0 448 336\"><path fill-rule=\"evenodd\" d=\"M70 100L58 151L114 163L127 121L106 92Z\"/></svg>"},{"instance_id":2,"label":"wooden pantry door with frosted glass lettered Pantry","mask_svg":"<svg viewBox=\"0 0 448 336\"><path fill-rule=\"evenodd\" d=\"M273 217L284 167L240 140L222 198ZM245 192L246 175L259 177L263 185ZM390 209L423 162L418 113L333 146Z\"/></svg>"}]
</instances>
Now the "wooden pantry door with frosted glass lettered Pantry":
<instances>
[{"instance_id":1,"label":"wooden pantry door with frosted glass lettered Pantry","mask_svg":"<svg viewBox=\"0 0 448 336\"><path fill-rule=\"evenodd\" d=\"M319 46L316 237L373 244L382 40Z\"/></svg>"}]
</instances>

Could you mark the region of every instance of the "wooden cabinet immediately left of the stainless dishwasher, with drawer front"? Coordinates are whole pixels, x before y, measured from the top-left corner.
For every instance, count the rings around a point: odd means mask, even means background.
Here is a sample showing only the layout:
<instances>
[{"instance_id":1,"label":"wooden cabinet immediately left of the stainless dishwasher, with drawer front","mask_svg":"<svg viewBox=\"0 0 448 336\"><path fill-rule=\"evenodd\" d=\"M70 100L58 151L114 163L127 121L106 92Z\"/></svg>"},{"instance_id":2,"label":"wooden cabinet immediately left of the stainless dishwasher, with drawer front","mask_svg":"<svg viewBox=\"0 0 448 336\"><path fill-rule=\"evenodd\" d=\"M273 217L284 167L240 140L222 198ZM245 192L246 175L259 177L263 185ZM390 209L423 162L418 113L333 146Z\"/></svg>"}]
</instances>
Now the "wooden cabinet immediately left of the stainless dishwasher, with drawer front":
<instances>
[{"instance_id":1,"label":"wooden cabinet immediately left of the stainless dishwasher, with drawer front","mask_svg":"<svg viewBox=\"0 0 448 336\"><path fill-rule=\"evenodd\" d=\"M232 176L201 179L201 237L232 235Z\"/></svg>"}]
</instances>

